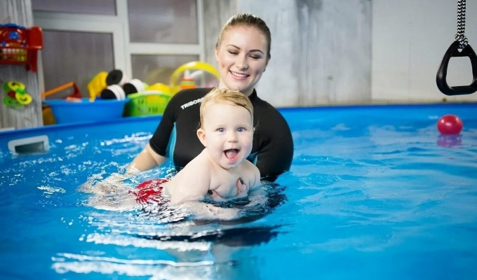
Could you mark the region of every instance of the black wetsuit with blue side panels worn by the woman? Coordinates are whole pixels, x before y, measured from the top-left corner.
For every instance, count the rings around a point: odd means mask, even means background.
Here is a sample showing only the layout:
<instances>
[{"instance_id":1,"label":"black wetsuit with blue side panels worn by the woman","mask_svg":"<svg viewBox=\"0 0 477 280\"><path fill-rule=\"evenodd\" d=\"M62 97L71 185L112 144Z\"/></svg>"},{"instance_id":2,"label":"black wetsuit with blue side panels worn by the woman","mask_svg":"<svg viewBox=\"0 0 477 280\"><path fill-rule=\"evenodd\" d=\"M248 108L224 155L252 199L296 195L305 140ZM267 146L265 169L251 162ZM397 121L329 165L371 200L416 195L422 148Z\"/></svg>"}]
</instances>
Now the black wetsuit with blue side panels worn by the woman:
<instances>
[{"instance_id":1,"label":"black wetsuit with blue side panels worn by the woman","mask_svg":"<svg viewBox=\"0 0 477 280\"><path fill-rule=\"evenodd\" d=\"M210 88L196 88L177 92L170 99L161 123L149 140L156 153L170 158L175 167L187 165L203 150L196 135L199 128L201 99ZM262 179L274 181L288 171L293 159L293 139L290 127L274 106L250 94L253 104L252 153L248 157L260 170Z\"/></svg>"}]
</instances>

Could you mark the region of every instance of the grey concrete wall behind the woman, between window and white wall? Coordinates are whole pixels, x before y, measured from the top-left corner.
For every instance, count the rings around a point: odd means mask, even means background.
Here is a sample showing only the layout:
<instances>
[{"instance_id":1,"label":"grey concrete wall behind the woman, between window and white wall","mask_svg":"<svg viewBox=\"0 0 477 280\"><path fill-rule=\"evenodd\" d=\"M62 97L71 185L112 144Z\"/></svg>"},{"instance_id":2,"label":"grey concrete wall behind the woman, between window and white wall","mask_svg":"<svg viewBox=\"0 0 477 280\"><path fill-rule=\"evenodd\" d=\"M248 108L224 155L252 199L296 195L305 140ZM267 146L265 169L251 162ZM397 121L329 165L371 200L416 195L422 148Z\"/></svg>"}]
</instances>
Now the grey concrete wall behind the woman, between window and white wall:
<instances>
[{"instance_id":1,"label":"grey concrete wall behind the woman, between window and white wall","mask_svg":"<svg viewBox=\"0 0 477 280\"><path fill-rule=\"evenodd\" d=\"M370 0L205 0L206 61L227 19L253 13L271 29L271 61L257 85L274 106L371 101Z\"/></svg>"}]
</instances>

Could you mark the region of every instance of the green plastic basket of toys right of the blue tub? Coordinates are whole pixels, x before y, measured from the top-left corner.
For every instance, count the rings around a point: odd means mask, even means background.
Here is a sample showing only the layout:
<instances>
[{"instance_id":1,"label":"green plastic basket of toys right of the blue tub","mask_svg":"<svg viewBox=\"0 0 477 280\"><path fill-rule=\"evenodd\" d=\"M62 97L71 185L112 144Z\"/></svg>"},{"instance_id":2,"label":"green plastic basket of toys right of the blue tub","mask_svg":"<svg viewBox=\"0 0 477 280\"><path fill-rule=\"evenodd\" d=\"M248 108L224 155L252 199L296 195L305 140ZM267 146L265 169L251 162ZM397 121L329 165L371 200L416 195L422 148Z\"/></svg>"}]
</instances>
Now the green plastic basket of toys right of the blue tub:
<instances>
[{"instance_id":1,"label":"green plastic basket of toys right of the blue tub","mask_svg":"<svg viewBox=\"0 0 477 280\"><path fill-rule=\"evenodd\" d=\"M158 90L146 90L128 94L130 102L126 105L127 116L162 115L173 94Z\"/></svg>"}]
</instances>

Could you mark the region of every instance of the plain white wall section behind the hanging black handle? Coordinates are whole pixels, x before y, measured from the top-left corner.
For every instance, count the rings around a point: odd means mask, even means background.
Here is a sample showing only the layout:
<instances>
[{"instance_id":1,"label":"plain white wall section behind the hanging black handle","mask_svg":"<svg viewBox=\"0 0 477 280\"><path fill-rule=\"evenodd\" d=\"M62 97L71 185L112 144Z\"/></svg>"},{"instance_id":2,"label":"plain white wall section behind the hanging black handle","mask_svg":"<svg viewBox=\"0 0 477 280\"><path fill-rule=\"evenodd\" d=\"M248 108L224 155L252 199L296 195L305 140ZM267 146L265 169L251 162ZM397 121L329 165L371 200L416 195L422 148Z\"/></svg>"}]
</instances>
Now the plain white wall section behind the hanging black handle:
<instances>
[{"instance_id":1,"label":"plain white wall section behind the hanging black handle","mask_svg":"<svg viewBox=\"0 0 477 280\"><path fill-rule=\"evenodd\" d=\"M448 97L436 85L438 66L456 32L457 0L373 0L372 100L477 101L477 92ZM477 51L477 0L466 1L465 36ZM452 58L449 85L471 80L469 59Z\"/></svg>"}]
</instances>

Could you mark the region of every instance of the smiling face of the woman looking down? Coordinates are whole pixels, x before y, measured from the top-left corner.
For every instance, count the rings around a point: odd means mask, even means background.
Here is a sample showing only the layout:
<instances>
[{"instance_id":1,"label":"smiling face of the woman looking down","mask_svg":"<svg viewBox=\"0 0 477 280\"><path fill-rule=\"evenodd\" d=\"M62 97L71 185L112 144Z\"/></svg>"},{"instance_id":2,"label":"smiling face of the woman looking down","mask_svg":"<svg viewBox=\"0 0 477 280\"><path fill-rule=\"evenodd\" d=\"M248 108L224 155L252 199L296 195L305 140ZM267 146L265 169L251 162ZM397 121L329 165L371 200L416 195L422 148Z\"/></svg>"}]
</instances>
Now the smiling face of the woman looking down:
<instances>
[{"instance_id":1,"label":"smiling face of the woman looking down","mask_svg":"<svg viewBox=\"0 0 477 280\"><path fill-rule=\"evenodd\" d=\"M220 87L249 96L268 64L267 38L255 27L232 27L215 49Z\"/></svg>"}]
</instances>

